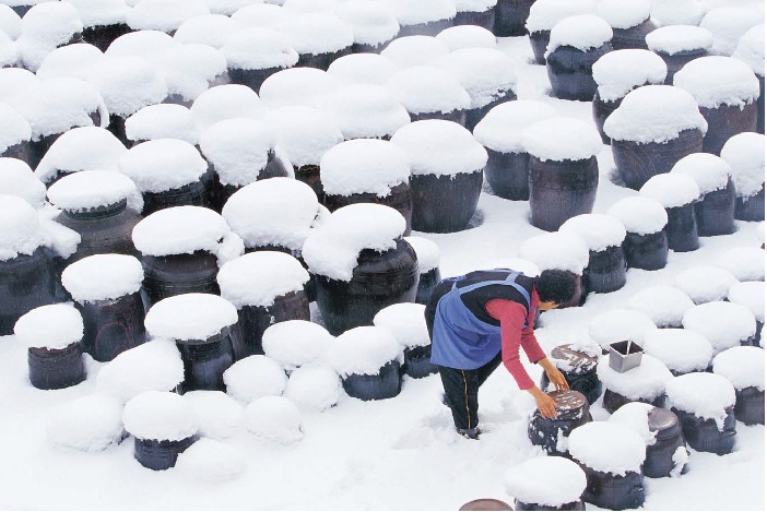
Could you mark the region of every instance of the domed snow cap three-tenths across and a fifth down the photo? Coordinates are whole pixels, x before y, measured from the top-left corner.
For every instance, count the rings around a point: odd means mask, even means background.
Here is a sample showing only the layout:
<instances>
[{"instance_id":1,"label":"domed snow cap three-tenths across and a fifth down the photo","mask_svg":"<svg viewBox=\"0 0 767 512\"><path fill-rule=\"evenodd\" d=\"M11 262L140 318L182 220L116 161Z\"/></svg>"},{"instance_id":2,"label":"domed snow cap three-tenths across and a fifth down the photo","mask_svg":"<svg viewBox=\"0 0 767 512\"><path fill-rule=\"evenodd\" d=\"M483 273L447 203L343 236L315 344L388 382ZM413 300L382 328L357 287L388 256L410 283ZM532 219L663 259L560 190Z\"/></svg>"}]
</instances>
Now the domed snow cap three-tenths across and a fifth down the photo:
<instances>
[{"instance_id":1,"label":"domed snow cap three-tenths across and a fifth down the photo","mask_svg":"<svg viewBox=\"0 0 767 512\"><path fill-rule=\"evenodd\" d=\"M200 94L189 110L194 116L200 130L205 130L224 119L260 119L263 117L266 107L250 87L226 84L216 85Z\"/></svg>"}]
</instances>

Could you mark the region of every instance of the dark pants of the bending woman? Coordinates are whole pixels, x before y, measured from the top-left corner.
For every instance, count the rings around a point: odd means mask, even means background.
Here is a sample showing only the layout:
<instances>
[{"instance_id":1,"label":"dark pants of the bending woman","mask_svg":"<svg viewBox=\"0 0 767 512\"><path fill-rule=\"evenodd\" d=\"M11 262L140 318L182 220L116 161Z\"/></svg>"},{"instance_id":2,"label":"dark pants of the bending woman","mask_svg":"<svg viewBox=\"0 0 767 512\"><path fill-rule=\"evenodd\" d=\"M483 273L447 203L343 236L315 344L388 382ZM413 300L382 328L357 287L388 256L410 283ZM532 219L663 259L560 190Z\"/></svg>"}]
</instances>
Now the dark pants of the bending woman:
<instances>
[{"instance_id":1,"label":"dark pants of the bending woman","mask_svg":"<svg viewBox=\"0 0 767 512\"><path fill-rule=\"evenodd\" d=\"M439 377L445 388L445 398L452 412L456 428L470 429L476 427L476 413L480 408L477 395L480 386L500 365L500 352L484 366L474 370L457 370L445 366L439 367Z\"/></svg>"}]
</instances>

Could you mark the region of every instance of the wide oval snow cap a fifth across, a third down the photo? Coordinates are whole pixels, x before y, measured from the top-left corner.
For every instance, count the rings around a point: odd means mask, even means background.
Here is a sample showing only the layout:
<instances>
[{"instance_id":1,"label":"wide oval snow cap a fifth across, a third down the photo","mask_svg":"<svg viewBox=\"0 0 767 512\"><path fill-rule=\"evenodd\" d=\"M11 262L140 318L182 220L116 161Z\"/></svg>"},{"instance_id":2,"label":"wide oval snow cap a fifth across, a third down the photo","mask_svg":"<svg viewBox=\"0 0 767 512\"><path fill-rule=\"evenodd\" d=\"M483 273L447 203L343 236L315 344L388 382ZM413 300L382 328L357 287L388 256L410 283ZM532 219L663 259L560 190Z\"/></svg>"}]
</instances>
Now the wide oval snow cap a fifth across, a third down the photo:
<instances>
[{"instance_id":1,"label":"wide oval snow cap a fifth across, a third down the photo","mask_svg":"<svg viewBox=\"0 0 767 512\"><path fill-rule=\"evenodd\" d=\"M177 139L156 139L134 145L118 160L120 172L141 192L165 192L198 181L208 170L200 152Z\"/></svg>"}]
</instances>

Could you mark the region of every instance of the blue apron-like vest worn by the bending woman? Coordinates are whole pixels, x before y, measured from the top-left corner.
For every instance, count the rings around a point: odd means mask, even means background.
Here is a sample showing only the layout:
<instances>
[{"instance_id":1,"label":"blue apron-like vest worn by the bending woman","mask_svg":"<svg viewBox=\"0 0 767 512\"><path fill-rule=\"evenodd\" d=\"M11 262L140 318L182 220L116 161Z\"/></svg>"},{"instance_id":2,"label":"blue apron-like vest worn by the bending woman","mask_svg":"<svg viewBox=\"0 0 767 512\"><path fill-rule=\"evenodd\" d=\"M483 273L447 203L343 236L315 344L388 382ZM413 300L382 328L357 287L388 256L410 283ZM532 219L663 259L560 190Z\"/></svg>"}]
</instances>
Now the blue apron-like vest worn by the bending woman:
<instances>
[{"instance_id":1,"label":"blue apron-like vest worn by the bending woman","mask_svg":"<svg viewBox=\"0 0 767 512\"><path fill-rule=\"evenodd\" d=\"M432 333L432 362L460 370L474 370L487 364L500 352L500 326L477 319L461 301L461 296L489 285L511 286L530 308L530 294L515 283L518 272L509 271L504 281L485 281L459 288L465 276L452 277L450 291L437 302ZM529 310L528 310L529 311ZM528 326L527 320L524 326Z\"/></svg>"}]
</instances>

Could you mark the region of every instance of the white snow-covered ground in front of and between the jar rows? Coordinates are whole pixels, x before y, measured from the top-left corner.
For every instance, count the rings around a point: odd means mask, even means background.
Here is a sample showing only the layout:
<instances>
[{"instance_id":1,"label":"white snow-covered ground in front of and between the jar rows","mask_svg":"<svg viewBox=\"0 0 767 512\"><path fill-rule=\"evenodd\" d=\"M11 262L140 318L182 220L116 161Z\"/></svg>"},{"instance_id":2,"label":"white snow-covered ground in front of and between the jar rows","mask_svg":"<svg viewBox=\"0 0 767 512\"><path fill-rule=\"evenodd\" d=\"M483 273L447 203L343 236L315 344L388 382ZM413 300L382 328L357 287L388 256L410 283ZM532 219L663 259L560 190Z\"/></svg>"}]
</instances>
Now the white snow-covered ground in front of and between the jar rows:
<instances>
[{"instance_id":1,"label":"white snow-covered ground in front of and between the jar rows","mask_svg":"<svg viewBox=\"0 0 767 512\"><path fill-rule=\"evenodd\" d=\"M527 37L502 39L498 47L516 63L520 99L541 99L562 116L591 122L590 103L546 95L546 70L528 63L532 51ZM609 146L598 159L593 212L605 213L637 192L611 182L615 166ZM485 188L470 229L413 235L439 246L442 276L457 275L517 257L524 240L543 233L530 225L528 216L527 202L500 199ZM736 222L736 227L732 235L701 238L696 251L670 253L662 270L629 270L626 286L618 291L591 295L579 308L545 312L536 331L543 348L586 340L595 315L626 307L649 286L673 285L683 271L716 265L732 248L760 246L764 231L759 234L757 223ZM316 308L312 314L319 314ZM538 380L540 368L524 362ZM0 509L457 510L479 498L511 503L505 472L543 455L527 437L534 404L503 368L480 392L484 433L479 442L456 434L440 402L439 378L430 376L404 378L402 392L391 400L362 402L342 395L330 409L304 412L303 439L291 444L263 440L240 426L223 442L245 460L247 469L228 481L201 479L212 472L210 465L204 471L146 469L133 459L131 438L96 453L55 448L47 433L51 414L93 393L103 366L87 358L85 382L60 391L36 390L27 380L26 347L13 336L0 338ZM600 404L592 406L592 415L594 420L606 420L609 414ZM693 451L688 473L646 478L645 486L647 510L764 510L765 429L738 422L733 453Z\"/></svg>"}]
</instances>

